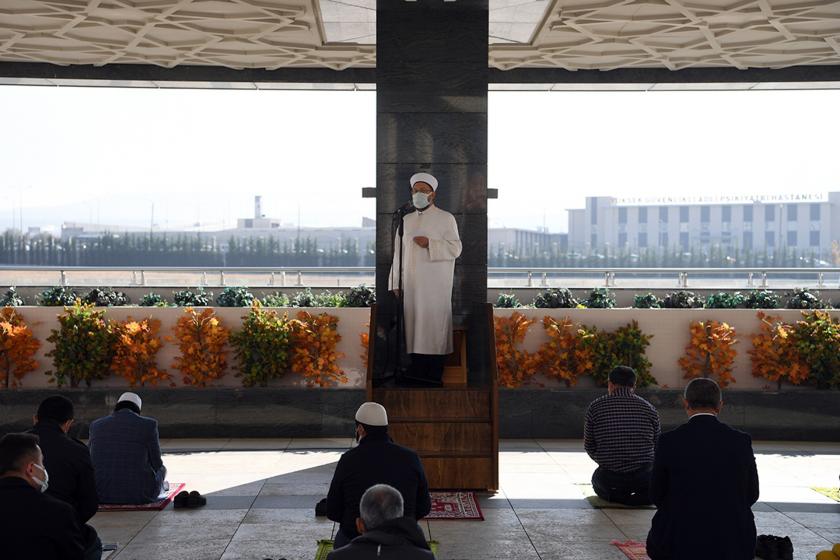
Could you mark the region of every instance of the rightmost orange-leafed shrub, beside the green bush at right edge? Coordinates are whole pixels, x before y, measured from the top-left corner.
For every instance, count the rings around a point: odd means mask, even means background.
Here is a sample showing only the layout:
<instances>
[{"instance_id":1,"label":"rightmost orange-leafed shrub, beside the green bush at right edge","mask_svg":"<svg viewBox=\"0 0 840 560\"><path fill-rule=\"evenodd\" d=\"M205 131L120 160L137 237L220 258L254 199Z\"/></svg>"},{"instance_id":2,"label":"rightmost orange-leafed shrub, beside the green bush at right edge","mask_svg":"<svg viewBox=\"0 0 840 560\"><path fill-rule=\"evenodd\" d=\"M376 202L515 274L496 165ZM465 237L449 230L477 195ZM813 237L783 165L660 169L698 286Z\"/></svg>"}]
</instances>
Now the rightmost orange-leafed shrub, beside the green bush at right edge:
<instances>
[{"instance_id":1,"label":"rightmost orange-leafed shrub, beside the green bush at right edge","mask_svg":"<svg viewBox=\"0 0 840 560\"><path fill-rule=\"evenodd\" d=\"M784 379L794 385L808 379L811 370L796 347L795 326L761 311L757 316L760 331L753 335L753 347L749 350L752 374L775 381L780 387Z\"/></svg>"}]
</instances>

